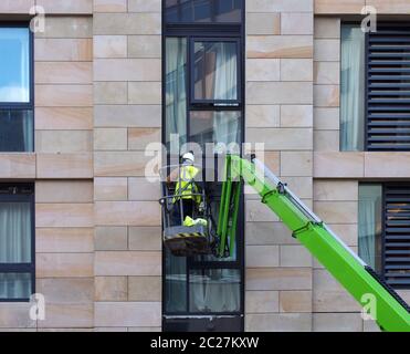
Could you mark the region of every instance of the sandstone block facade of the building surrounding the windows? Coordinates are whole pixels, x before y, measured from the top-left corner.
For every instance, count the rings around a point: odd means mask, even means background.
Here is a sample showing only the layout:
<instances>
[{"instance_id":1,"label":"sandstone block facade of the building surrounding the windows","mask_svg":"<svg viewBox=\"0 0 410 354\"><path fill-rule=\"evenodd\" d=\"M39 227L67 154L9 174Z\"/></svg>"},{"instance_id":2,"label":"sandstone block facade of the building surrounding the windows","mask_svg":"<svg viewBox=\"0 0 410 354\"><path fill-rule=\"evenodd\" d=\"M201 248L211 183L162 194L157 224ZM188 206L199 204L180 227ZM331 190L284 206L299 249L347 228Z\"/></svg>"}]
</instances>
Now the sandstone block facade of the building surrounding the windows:
<instances>
[{"instance_id":1,"label":"sandstone block facade of the building surrounding the windows","mask_svg":"<svg viewBox=\"0 0 410 354\"><path fill-rule=\"evenodd\" d=\"M398 24L408 21L410 2L224 1L243 6L241 23L233 34L224 35L239 39L236 54L243 56L243 142L264 143L265 160L273 171L358 251L360 202L368 200L367 192L385 202L381 195L388 196L391 188L406 190L407 181L410 186L410 152L371 148L370 139L362 147L341 142L346 126L340 122L348 102L343 80L348 86L351 74L344 70L348 50L344 39L349 25L351 30L360 24L364 7L376 8L379 21ZM171 7L185 1L167 2ZM161 0L3 0L0 49L7 37L3 29L27 27L35 6L45 11L45 31L29 40L27 58L33 75L29 75L28 100L20 106L0 96L0 117L13 110L32 112L24 119L32 119L33 133L32 148L23 138L24 152L7 150L7 144L0 143L0 206L4 210L15 201L30 206L19 211L29 216L24 240L30 249L25 259L9 261L24 266L14 264L12 271L0 261L0 330L206 330L208 319L195 320L201 311L181 311L178 321L165 317L164 296L169 293L162 263L160 185L145 178L151 158L146 146L161 142L166 134L166 37L176 34L165 23L172 21L165 15L165 4ZM406 25L401 29L404 38L407 30ZM406 79L390 84L395 83L406 84ZM0 79L0 88L1 84ZM368 86L356 90L377 96ZM366 104L372 107L369 98ZM406 106L401 107L406 113ZM1 121L0 129L6 132L7 119ZM376 186L376 191L369 186ZM410 196L403 195L401 202L410 205ZM372 253L379 252L375 258L382 259L380 271L386 271L389 254L395 254L386 253L383 217L380 211L382 231L378 229L375 238L381 235L385 242L381 248L372 244ZM359 305L253 195L244 200L243 229L243 254L239 252L242 259L235 266L239 306L233 315L217 321L217 329L377 330L362 321ZM402 239L410 242L406 235ZM403 254L403 269L406 264L409 269L409 256ZM13 301L20 296L20 282L44 294L44 321L30 320L29 302ZM7 290L6 283L12 289ZM409 302L406 288L410 283L400 283L398 289Z\"/></svg>"}]
</instances>

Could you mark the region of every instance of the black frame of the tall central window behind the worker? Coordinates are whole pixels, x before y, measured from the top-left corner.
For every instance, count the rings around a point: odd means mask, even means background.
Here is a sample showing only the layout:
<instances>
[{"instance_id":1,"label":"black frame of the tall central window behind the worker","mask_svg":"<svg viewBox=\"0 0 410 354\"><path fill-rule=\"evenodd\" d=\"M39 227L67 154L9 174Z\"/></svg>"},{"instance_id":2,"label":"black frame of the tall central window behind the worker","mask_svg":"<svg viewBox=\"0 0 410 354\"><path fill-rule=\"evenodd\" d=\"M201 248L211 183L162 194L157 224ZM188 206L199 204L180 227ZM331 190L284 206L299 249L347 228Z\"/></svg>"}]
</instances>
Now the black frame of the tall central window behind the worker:
<instances>
[{"instance_id":1,"label":"black frame of the tall central window behind the worker","mask_svg":"<svg viewBox=\"0 0 410 354\"><path fill-rule=\"evenodd\" d=\"M245 39L245 3L243 2L242 8L242 21L239 22L197 22L197 23L167 23L166 22L166 7L165 1L162 1L162 82L166 79L166 40L167 38L185 38L187 40L187 75L186 75L186 92L187 92L187 142L189 143L190 138L190 112L193 111L211 111L211 112L224 112L224 111L234 111L241 113L241 143L244 142L244 97L245 97L245 87L243 85L243 80L245 77L245 50L244 50L244 39ZM193 53L193 41L212 41L218 42L219 40L229 40L238 41L238 60L239 60L239 71L238 71L238 88L239 88L239 102L238 105L215 105L213 102L192 102L193 98L193 61L191 60ZM166 85L162 84L162 133L161 139L162 144L167 144L167 132L166 132ZM175 158L167 152L167 165L170 160ZM203 166L204 156L202 156ZM215 157L217 166L217 157ZM241 197L240 206L240 227L238 228L238 239L236 239L236 259L234 261L195 261L192 258L187 258L187 311L186 312L168 312L166 309L166 252L162 250L162 326L166 325L166 319L169 317L190 317L192 321L195 317L204 316L204 317L217 317L217 316L236 316L241 319L241 329L244 329L243 316L244 316L244 198L243 190ZM210 269L238 269L240 271L240 309L238 312L191 312L189 311L189 273L191 270L210 270Z\"/></svg>"}]
</instances>

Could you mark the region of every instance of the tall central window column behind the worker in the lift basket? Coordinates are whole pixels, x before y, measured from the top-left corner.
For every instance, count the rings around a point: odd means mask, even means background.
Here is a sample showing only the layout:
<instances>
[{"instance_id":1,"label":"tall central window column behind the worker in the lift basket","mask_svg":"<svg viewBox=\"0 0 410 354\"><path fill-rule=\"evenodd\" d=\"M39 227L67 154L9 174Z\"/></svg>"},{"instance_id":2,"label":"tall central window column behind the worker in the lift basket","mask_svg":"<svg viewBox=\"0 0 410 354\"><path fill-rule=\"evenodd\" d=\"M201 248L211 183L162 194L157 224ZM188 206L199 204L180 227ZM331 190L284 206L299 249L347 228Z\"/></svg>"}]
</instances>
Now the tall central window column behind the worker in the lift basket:
<instances>
[{"instance_id":1,"label":"tall central window column behind the worker in the lift basket","mask_svg":"<svg viewBox=\"0 0 410 354\"><path fill-rule=\"evenodd\" d=\"M183 148L186 143L197 143L203 160L213 162L214 154L242 143L243 3L238 0L165 0L164 11L162 112L167 165L175 163L175 156L187 149ZM195 153L200 160L196 149ZM214 171L218 173L218 167ZM207 181L206 185L214 202L213 218L218 220L221 184ZM243 219L240 222L243 225ZM242 230L240 227L232 258L180 258L165 250L162 311L166 330L170 329L168 323L181 316L197 317L180 324L191 327L200 315L227 316L225 320L236 323L231 327L241 327L244 308ZM209 323L201 321L201 326L195 329L203 330Z\"/></svg>"}]
</instances>

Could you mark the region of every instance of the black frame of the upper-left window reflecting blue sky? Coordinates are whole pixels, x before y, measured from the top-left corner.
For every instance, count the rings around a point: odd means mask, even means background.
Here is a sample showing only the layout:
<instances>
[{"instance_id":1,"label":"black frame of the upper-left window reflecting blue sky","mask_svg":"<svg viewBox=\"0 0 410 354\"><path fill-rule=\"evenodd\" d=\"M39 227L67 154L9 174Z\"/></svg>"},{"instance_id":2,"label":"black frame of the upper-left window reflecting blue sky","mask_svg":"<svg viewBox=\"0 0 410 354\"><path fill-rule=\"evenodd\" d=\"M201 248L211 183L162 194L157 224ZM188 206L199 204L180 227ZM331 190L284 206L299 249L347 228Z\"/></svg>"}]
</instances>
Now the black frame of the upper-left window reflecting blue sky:
<instances>
[{"instance_id":1,"label":"black frame of the upper-left window reflecting blue sky","mask_svg":"<svg viewBox=\"0 0 410 354\"><path fill-rule=\"evenodd\" d=\"M0 21L0 31L4 28L13 28L13 29L28 29L29 31L29 90L30 90L30 100L29 102L0 102L0 111L30 111L32 113L33 119L33 129L32 129L32 140L33 146L32 150L29 152L19 152L19 153L33 153L35 150L35 128L34 128L34 34L30 29L30 22L28 21ZM0 152L0 153L8 153L8 152Z\"/></svg>"}]
</instances>

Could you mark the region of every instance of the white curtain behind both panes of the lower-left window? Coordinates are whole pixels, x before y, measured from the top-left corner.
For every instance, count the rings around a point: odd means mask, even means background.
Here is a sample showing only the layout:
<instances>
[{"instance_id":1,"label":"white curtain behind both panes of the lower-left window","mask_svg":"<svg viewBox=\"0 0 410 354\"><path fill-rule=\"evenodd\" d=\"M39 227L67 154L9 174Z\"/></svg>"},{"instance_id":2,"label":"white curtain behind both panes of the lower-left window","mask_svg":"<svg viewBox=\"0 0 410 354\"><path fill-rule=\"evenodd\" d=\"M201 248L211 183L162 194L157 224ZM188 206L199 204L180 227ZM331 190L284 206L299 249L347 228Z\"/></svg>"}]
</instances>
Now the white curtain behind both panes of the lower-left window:
<instances>
[{"instance_id":1,"label":"white curtain behind both panes of the lower-left window","mask_svg":"<svg viewBox=\"0 0 410 354\"><path fill-rule=\"evenodd\" d=\"M31 262L31 216L28 202L0 202L0 263ZM1 273L0 298L30 295L30 274Z\"/></svg>"}]
</instances>

